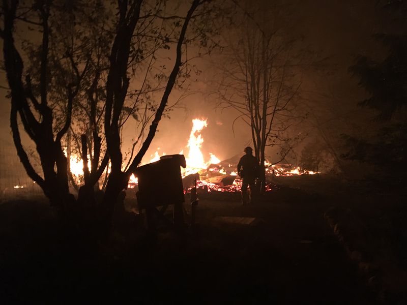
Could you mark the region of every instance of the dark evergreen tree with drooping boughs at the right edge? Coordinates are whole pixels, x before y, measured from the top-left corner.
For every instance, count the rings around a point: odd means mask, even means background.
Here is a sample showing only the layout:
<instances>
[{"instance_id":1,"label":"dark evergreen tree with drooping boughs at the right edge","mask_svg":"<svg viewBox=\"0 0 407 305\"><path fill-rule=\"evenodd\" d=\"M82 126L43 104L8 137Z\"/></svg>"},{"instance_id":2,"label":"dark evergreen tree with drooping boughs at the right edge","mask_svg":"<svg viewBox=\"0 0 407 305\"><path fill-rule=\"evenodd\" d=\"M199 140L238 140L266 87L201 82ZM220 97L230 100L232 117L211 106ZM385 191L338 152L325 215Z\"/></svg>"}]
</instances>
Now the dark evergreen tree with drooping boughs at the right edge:
<instances>
[{"instance_id":1,"label":"dark evergreen tree with drooping boughs at the right edge","mask_svg":"<svg viewBox=\"0 0 407 305\"><path fill-rule=\"evenodd\" d=\"M407 3L403 0L377 1L381 33L379 55L358 56L349 68L359 79L368 98L359 106L377 113L376 128L362 136L342 135L346 160L359 161L375 170L374 179L386 185L404 187L407 154L405 109L407 106ZM382 48L381 48L382 47Z\"/></svg>"}]
</instances>

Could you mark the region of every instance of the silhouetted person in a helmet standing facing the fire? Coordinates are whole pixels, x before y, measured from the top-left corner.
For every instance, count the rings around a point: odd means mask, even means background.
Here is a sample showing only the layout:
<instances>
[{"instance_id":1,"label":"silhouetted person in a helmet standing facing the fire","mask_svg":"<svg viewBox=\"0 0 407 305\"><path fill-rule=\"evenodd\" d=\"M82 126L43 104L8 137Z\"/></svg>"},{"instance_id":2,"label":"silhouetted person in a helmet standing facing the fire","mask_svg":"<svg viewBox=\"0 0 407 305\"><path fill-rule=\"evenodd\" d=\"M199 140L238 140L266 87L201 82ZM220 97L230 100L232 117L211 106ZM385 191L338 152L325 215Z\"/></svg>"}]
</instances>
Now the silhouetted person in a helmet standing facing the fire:
<instances>
[{"instance_id":1,"label":"silhouetted person in a helmet standing facing the fire","mask_svg":"<svg viewBox=\"0 0 407 305\"><path fill-rule=\"evenodd\" d=\"M250 146L245 148L245 153L239 160L238 174L242 178L242 204L247 204L248 195L247 187L250 187L250 201L253 201L253 195L256 190L255 181L258 176L258 164L256 158L253 156L253 149Z\"/></svg>"}]
</instances>

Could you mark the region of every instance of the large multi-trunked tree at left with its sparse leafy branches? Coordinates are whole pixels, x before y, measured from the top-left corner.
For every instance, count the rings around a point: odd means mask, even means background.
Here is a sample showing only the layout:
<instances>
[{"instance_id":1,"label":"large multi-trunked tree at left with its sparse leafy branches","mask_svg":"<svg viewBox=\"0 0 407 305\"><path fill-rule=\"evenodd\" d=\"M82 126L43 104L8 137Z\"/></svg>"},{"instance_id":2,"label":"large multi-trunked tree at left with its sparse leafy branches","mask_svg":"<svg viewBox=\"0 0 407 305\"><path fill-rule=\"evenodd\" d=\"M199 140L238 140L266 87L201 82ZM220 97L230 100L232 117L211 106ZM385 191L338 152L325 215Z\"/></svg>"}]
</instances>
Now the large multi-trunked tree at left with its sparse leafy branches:
<instances>
[{"instance_id":1,"label":"large multi-trunked tree at left with its sparse leafy branches","mask_svg":"<svg viewBox=\"0 0 407 305\"><path fill-rule=\"evenodd\" d=\"M88 4L81 1L56 0L33 1L27 5L25 2L20 4L19 1L3 0L4 25L0 29L0 35L4 41L4 63L10 86L10 125L14 144L27 174L42 188L51 204L57 206L65 216L80 215L78 211L92 205L93 188L110 158L111 172L102 208L95 210L96 214L93 215L94 217L99 215L101 224L109 228L117 196L126 188L131 173L140 163L154 138L171 90L185 63L182 59L183 45L191 42L186 38L187 29L190 23L193 23L193 29L201 29L199 22L205 20L206 13L210 11L206 0L192 0L186 8L185 17L167 14L165 5L165 1L143 0L120 0L115 5L103 1ZM199 13L198 8L201 8ZM86 27L83 28L85 25L79 25L79 29L75 26L56 26L57 18L63 18L62 12L66 9L70 10L71 15L68 15L72 17L70 22L73 25L77 24L75 17L80 15L79 11L84 17L96 22L97 26L93 29L99 28L100 35L106 35L103 37L104 45L100 48L103 47L105 50L107 47L109 49L107 54L103 51L98 53L97 46L95 48L92 44L97 40L86 39L86 35L95 33L88 31ZM183 10L185 7L181 6L179 9ZM100 12L106 13L107 20L103 15L98 15ZM162 37L162 32L154 28L157 26L156 20L171 24L172 29L169 31L171 36ZM20 22L28 23L41 34L36 58L20 54L21 51L15 41L16 26L20 26ZM72 33L74 35L67 35ZM64 37L71 37L72 42L67 42ZM123 117L126 117L123 113L126 113L131 80L137 76L137 69L140 69L142 64L148 63L148 59L152 58L150 56L154 56L154 53L144 53L146 44L154 45L155 41L162 38L166 44L161 44L161 48L170 49L171 43L176 47L172 70L165 78L162 97L154 110L155 115L148 135L127 170L123 171L120 128ZM24 68L26 62L35 63L37 66L32 70L39 71L35 84L31 80L32 76L28 74L30 70ZM64 73L68 81L64 81ZM57 87L61 84L63 86ZM86 162L89 139L83 134L80 146L84 165L84 184L79 189L78 198L75 199L68 187L68 160L64 154L63 138L72 127L73 109L77 105L75 102L80 100L80 95L86 95L87 104L84 108L90 114L86 119L89 120L88 126L92 130L94 151L92 166L89 169ZM97 105L100 102L103 103L104 109L98 111ZM56 115L58 110L60 115L65 114L62 124L62 117ZM100 156L101 130L96 122L97 116L100 117L101 113L107 148L103 158ZM36 145L42 173L35 170L26 153L20 137L18 119L21 120L25 133ZM59 121L55 122L56 119Z\"/></svg>"}]
</instances>

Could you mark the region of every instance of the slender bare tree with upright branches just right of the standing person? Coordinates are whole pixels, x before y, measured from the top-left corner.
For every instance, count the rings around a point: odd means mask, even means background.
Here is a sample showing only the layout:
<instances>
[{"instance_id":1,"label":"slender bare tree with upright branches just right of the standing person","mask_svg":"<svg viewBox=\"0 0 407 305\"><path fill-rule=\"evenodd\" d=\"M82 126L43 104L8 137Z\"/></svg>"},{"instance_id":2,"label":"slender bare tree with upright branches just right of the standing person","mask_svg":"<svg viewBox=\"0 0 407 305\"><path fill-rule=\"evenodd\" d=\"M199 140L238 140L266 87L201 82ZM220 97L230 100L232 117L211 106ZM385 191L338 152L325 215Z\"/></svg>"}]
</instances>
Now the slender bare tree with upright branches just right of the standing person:
<instances>
[{"instance_id":1,"label":"slender bare tree with upright branches just right of the standing person","mask_svg":"<svg viewBox=\"0 0 407 305\"><path fill-rule=\"evenodd\" d=\"M301 82L293 73L293 43L275 19L281 7L256 2L240 9L236 31L229 31L224 65L218 84L223 107L240 112L251 130L259 163L261 190L265 190L266 147L280 146L282 159L291 150L286 131L297 118L294 100Z\"/></svg>"}]
</instances>

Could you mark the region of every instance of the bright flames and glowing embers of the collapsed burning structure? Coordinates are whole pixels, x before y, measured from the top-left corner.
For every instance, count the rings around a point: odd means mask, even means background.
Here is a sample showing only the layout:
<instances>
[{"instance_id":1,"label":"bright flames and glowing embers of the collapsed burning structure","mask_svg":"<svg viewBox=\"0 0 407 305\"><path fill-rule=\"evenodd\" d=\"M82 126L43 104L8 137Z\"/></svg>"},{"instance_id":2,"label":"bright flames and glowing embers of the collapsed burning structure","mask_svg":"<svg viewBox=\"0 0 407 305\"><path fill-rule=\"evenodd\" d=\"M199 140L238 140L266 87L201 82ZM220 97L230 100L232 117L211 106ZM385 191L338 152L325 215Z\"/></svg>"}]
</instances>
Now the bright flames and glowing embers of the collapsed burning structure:
<instances>
[{"instance_id":1,"label":"bright flames and glowing embers of the collapsed burning structure","mask_svg":"<svg viewBox=\"0 0 407 305\"><path fill-rule=\"evenodd\" d=\"M242 181L236 170L241 156L235 155L223 161L213 153L209 153L205 156L202 153L202 144L204 142L202 131L207 127L207 119L194 118L192 120L191 132L186 141L187 145L185 146L185 150L188 151L188 153L185 154L186 167L181 169L182 184L185 192L189 192L195 185L198 189L205 192L240 192ZM2 160L9 160L11 158L11 153L8 153L8 150L6 149L8 146L10 146L10 151L14 150L14 147L11 147L11 145L2 145ZM157 148L152 155L152 158L148 162L142 163L141 166L154 163L165 157L166 154L160 154L159 149L160 148ZM181 150L179 154L183 155L184 150ZM35 186L33 181L31 181L31 179L25 174L25 171L19 160L15 158L15 155L13 155L12 159L15 159L13 162L10 161L15 164L15 166L12 166L12 169L5 172L10 166L2 166L0 168L2 171L1 188L3 195L7 192L12 192L13 194L16 192L21 193L26 189L31 190ZM88 163L88 166L90 167L90 158L88 158ZM79 156L71 154L69 164L73 179L79 185L80 181L83 179L83 161ZM271 163L266 162L266 175L270 179L272 176L292 176L304 173L314 174L314 172L304 172L299 167L293 168L289 164L272 165ZM10 177L10 175L14 178ZM134 174L130 177L128 188L138 189L138 178ZM266 191L271 191L271 184L266 185Z\"/></svg>"}]
</instances>

